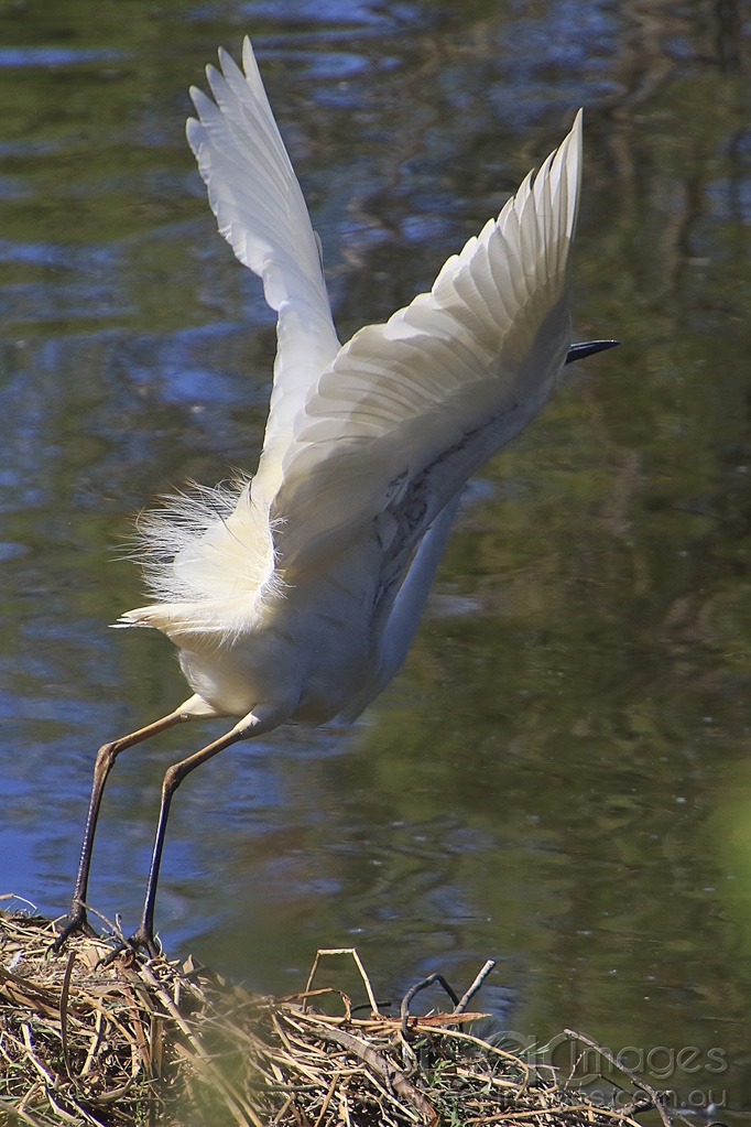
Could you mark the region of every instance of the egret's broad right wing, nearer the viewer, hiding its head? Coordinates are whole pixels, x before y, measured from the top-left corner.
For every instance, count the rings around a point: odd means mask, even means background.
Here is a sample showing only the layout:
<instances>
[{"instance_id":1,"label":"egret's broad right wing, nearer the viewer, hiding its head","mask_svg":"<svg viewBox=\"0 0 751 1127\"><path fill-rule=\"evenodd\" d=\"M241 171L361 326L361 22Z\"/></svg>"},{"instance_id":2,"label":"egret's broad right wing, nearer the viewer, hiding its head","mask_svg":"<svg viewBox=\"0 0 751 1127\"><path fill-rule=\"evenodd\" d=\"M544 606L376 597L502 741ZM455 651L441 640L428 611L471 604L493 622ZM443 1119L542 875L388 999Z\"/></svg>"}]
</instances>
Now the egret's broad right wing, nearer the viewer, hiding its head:
<instances>
[{"instance_id":1,"label":"egret's broad right wing, nearer the viewer, hiding its head","mask_svg":"<svg viewBox=\"0 0 751 1127\"><path fill-rule=\"evenodd\" d=\"M403 561L470 474L539 410L571 340L581 151L580 112L430 293L357 332L311 388L271 509L286 574L374 520L386 554L393 545Z\"/></svg>"}]
</instances>

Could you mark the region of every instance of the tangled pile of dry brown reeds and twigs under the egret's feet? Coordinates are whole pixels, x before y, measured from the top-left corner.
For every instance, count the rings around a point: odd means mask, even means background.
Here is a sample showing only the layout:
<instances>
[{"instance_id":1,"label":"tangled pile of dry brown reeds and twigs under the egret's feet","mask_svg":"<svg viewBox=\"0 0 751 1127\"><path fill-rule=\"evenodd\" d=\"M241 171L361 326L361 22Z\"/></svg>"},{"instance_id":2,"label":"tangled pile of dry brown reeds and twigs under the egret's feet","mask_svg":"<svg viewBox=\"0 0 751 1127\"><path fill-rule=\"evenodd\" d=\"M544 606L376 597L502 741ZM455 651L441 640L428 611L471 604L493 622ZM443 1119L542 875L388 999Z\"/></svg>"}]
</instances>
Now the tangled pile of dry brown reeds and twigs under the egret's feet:
<instances>
[{"instance_id":1,"label":"tangled pile of dry brown reeds and twigs under the egret's feet","mask_svg":"<svg viewBox=\"0 0 751 1127\"><path fill-rule=\"evenodd\" d=\"M464 999L440 976L418 983L399 1017L356 1017L336 988L258 997L217 975L74 937L50 957L54 925L0 912L0 1122L30 1127L637 1127L659 1095L641 1085L617 1109L590 1103L549 1066L534 1067L472 1032ZM329 953L329 952L319 952ZM438 979L448 1013L415 1017ZM331 1000L339 1015L322 1012ZM331 1006L329 1005L329 1009ZM576 1036L576 1035L572 1035ZM584 1039L585 1040L585 1039ZM602 1050L605 1053L605 1050Z\"/></svg>"}]
</instances>

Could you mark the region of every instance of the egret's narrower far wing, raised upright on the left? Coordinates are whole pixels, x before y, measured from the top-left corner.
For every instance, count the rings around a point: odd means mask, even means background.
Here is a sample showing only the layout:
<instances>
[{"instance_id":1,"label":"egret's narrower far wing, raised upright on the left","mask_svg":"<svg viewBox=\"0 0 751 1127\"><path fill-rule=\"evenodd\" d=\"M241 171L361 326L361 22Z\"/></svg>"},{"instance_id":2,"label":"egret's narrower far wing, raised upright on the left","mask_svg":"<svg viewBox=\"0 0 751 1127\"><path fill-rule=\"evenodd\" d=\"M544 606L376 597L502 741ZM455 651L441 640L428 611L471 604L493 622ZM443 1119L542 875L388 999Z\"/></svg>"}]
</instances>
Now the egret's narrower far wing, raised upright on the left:
<instances>
[{"instance_id":1,"label":"egret's narrower far wing, raised upright on the left","mask_svg":"<svg viewBox=\"0 0 751 1127\"><path fill-rule=\"evenodd\" d=\"M222 72L206 68L215 100L191 88L198 119L188 119L187 135L221 233L262 279L266 300L279 314L271 407L253 486L262 503L281 483L293 419L339 340L305 199L247 37L242 60L244 74L223 50Z\"/></svg>"}]
</instances>

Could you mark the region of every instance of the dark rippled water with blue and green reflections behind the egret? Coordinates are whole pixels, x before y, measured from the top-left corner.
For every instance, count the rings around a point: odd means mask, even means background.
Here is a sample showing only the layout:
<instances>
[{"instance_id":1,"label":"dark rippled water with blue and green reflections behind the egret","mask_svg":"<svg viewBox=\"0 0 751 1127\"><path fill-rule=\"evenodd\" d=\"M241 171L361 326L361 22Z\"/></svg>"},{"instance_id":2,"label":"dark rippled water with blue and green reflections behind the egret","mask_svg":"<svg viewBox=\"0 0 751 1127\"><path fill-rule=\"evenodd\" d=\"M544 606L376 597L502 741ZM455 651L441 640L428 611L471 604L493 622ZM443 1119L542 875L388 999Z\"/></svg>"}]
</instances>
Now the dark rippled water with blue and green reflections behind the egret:
<instances>
[{"instance_id":1,"label":"dark rippled water with blue and green reflections behind the egret","mask_svg":"<svg viewBox=\"0 0 751 1127\"><path fill-rule=\"evenodd\" d=\"M733 0L0 3L0 890L65 909L96 747L186 694L166 639L108 630L142 603L116 550L133 514L256 464L272 318L184 136L188 85L245 32L342 338L429 286L583 105L576 330L624 344L485 468L364 719L186 782L161 935L276 992L320 946L357 943L382 997L432 970L465 986L492 956L503 1028L573 1026L683 1103L748 1108L751 27ZM162 773L215 731L118 761L90 896L125 926Z\"/></svg>"}]
</instances>

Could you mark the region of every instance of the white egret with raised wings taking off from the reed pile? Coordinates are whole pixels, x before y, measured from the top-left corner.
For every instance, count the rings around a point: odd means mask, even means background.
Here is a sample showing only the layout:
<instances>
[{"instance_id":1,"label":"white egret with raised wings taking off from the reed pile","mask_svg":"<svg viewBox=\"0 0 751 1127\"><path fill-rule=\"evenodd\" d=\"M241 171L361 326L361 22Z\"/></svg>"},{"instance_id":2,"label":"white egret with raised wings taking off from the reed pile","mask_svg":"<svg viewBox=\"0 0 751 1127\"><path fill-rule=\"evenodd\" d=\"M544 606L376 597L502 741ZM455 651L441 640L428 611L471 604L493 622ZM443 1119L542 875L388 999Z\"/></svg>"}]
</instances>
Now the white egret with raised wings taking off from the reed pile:
<instances>
[{"instance_id":1,"label":"white egret with raised wings taking off from the reed pile","mask_svg":"<svg viewBox=\"0 0 751 1127\"><path fill-rule=\"evenodd\" d=\"M540 409L571 344L567 261L581 178L581 113L537 176L385 325L341 346L320 245L253 52L220 51L212 101L190 91L187 134L221 233L277 311L274 390L252 479L172 498L141 525L155 601L118 624L180 649L193 695L97 755L81 861L60 949L86 926L102 790L120 752L172 725L233 717L171 766L141 924L154 903L170 802L223 748L286 720L354 719L412 641L462 489Z\"/></svg>"}]
</instances>

